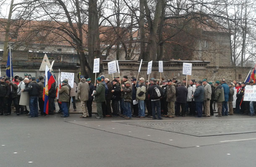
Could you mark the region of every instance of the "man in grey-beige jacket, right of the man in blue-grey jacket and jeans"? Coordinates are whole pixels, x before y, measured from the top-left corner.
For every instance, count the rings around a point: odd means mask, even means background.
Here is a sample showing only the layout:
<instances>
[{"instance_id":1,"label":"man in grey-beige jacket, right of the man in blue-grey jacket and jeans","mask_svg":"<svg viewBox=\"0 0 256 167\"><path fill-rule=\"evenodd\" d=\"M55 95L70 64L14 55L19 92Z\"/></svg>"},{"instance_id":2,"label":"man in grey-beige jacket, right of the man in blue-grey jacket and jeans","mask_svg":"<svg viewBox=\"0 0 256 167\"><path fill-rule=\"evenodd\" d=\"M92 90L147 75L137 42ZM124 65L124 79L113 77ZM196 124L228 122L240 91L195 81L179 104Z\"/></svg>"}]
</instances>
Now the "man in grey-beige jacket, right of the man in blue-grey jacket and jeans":
<instances>
[{"instance_id":1,"label":"man in grey-beige jacket, right of the man in blue-grey jacket and jeans","mask_svg":"<svg viewBox=\"0 0 256 167\"><path fill-rule=\"evenodd\" d=\"M207 83L206 79L203 79L204 85L204 116L210 116L210 103L212 98L212 87L209 83Z\"/></svg>"}]
</instances>

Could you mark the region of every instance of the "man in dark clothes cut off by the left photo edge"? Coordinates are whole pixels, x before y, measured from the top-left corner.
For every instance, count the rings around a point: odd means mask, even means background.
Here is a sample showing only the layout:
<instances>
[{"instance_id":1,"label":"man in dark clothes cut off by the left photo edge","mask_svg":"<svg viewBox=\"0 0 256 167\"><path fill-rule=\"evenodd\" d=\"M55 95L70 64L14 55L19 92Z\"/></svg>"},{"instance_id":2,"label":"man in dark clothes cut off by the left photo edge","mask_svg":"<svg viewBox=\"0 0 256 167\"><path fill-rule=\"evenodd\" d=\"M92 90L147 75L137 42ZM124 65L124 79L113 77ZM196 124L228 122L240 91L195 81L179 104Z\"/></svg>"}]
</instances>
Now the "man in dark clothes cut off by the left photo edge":
<instances>
[{"instance_id":1,"label":"man in dark clothes cut off by the left photo edge","mask_svg":"<svg viewBox=\"0 0 256 167\"><path fill-rule=\"evenodd\" d=\"M5 82L3 76L0 77L0 115L7 114L7 99L9 97L10 90L8 84Z\"/></svg>"}]
</instances>

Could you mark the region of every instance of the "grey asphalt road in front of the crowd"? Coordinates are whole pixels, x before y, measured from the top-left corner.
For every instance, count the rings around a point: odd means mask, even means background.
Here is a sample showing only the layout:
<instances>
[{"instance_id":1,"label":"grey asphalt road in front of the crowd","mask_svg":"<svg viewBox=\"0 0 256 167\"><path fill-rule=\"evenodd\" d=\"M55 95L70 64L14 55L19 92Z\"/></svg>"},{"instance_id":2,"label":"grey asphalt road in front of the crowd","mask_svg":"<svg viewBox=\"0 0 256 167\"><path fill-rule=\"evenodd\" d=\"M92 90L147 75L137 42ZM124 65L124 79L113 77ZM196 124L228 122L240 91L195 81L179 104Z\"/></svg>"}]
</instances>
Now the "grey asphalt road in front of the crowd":
<instances>
[{"instance_id":1,"label":"grey asphalt road in front of the crowd","mask_svg":"<svg viewBox=\"0 0 256 167\"><path fill-rule=\"evenodd\" d=\"M0 116L0 167L256 166L256 117L79 116Z\"/></svg>"}]
</instances>

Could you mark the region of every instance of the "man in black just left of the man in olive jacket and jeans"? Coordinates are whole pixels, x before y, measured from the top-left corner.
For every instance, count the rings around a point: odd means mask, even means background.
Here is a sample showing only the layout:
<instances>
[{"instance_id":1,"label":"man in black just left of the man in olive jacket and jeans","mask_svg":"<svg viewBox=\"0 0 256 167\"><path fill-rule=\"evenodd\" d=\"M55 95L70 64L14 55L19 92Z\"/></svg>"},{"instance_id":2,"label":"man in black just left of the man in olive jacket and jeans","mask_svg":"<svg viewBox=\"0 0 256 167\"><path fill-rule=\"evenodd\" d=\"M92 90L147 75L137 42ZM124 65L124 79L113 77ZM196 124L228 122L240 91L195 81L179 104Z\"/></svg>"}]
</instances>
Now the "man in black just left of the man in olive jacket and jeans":
<instances>
[{"instance_id":1,"label":"man in black just left of the man in olive jacket and jeans","mask_svg":"<svg viewBox=\"0 0 256 167\"><path fill-rule=\"evenodd\" d=\"M118 116L120 114L119 110L119 101L121 98L121 86L118 83L118 80L113 80L113 87L112 87L112 109L113 109L113 116Z\"/></svg>"}]
</instances>

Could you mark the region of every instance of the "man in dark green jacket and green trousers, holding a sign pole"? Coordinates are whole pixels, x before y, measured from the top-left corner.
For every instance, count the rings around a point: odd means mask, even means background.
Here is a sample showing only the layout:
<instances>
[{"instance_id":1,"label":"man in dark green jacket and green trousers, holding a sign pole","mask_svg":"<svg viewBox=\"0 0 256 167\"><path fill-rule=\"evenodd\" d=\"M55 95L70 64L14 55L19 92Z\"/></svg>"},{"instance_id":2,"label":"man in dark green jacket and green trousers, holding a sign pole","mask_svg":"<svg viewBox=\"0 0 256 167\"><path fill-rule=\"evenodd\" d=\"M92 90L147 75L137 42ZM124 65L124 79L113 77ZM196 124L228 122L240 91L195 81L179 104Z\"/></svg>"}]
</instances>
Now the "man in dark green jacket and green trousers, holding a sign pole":
<instances>
[{"instance_id":1,"label":"man in dark green jacket and green trousers, holding a sign pole","mask_svg":"<svg viewBox=\"0 0 256 167\"><path fill-rule=\"evenodd\" d=\"M95 96L96 106L97 106L97 116L95 118L102 119L102 103L105 103L105 83L102 82L102 78L97 78L97 89L94 92L94 94L91 94L91 96Z\"/></svg>"}]
</instances>

